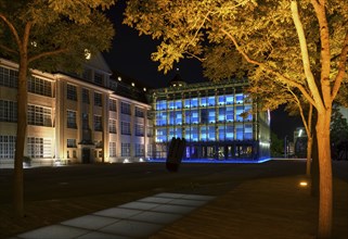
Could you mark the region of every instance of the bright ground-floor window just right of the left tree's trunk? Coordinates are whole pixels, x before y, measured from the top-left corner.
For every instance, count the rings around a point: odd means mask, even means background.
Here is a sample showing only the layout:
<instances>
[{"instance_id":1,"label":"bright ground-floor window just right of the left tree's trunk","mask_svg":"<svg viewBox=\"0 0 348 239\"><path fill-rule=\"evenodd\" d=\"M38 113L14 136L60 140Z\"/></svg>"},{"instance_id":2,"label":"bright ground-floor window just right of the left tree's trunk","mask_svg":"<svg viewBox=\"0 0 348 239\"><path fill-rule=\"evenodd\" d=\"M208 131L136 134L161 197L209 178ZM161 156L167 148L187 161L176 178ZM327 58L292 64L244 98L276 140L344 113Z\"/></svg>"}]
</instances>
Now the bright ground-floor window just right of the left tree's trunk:
<instances>
[{"instance_id":1,"label":"bright ground-floor window just right of the left tree's trunk","mask_svg":"<svg viewBox=\"0 0 348 239\"><path fill-rule=\"evenodd\" d=\"M34 159L51 158L51 139L28 137L28 156Z\"/></svg>"}]
</instances>

